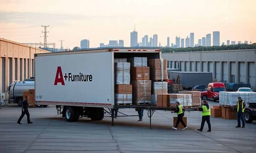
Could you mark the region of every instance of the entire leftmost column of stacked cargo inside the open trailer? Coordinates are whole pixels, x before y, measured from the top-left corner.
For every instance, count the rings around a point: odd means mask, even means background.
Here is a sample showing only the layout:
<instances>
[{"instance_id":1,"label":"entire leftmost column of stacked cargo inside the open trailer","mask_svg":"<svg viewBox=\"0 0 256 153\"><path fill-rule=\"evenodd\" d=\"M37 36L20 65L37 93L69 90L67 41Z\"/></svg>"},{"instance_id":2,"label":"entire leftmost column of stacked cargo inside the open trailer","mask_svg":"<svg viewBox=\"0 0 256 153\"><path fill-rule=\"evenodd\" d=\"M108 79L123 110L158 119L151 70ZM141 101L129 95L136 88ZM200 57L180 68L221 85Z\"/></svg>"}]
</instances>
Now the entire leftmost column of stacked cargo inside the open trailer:
<instances>
[{"instance_id":1,"label":"entire leftmost column of stacked cargo inside the open trailer","mask_svg":"<svg viewBox=\"0 0 256 153\"><path fill-rule=\"evenodd\" d=\"M116 105L132 105L132 85L130 84L130 63L127 59L115 61L115 103ZM122 61L122 62L119 62Z\"/></svg>"}]
</instances>

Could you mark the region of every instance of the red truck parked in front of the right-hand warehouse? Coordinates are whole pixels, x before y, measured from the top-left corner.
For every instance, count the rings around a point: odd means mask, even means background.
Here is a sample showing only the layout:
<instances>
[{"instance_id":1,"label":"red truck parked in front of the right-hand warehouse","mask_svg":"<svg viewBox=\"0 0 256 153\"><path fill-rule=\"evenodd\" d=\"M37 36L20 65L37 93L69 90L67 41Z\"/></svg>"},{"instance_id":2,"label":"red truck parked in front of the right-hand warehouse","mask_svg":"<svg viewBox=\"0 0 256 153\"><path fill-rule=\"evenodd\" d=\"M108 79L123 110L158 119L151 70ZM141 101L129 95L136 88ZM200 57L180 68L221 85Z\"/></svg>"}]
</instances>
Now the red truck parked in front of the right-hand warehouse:
<instances>
[{"instance_id":1,"label":"red truck parked in front of the right-hand warehouse","mask_svg":"<svg viewBox=\"0 0 256 153\"><path fill-rule=\"evenodd\" d=\"M210 83L207 86L207 90L200 92L201 98L203 100L212 99L212 101L219 100L219 92L226 91L225 85L223 83Z\"/></svg>"}]
</instances>

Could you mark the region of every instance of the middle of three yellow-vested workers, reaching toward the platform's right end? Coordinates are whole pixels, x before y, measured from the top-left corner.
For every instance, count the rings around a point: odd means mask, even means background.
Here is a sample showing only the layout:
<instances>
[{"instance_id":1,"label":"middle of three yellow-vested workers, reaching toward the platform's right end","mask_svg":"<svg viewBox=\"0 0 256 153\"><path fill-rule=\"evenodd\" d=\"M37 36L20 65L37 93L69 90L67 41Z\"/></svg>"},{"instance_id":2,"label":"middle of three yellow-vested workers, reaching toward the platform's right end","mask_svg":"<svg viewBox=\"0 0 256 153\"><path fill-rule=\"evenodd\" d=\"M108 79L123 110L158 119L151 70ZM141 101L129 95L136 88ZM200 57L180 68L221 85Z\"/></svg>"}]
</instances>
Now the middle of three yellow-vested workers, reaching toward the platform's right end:
<instances>
[{"instance_id":1,"label":"middle of three yellow-vested workers, reaching toward the platform's right end","mask_svg":"<svg viewBox=\"0 0 256 153\"><path fill-rule=\"evenodd\" d=\"M203 106L198 109L199 111L202 112L202 122L201 122L201 128L197 129L198 131L203 131L204 128L204 123L205 121L208 124L208 131L211 132L211 123L210 123L210 116L211 116L211 109L209 107L209 104L206 100L203 101Z\"/></svg>"}]
</instances>

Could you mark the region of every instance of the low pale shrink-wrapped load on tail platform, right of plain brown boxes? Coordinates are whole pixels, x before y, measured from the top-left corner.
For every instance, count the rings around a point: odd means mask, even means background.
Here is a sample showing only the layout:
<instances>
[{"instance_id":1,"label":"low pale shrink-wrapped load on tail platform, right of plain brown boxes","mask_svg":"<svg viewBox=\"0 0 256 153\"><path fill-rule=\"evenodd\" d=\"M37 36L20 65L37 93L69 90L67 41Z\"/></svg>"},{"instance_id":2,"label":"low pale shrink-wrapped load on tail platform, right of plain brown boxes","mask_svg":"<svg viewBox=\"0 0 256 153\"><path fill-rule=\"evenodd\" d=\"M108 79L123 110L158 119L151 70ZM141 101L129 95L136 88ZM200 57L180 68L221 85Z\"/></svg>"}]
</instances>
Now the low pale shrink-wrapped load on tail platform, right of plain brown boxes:
<instances>
[{"instance_id":1,"label":"low pale shrink-wrapped load on tail platform, right of plain brown boxes","mask_svg":"<svg viewBox=\"0 0 256 153\"><path fill-rule=\"evenodd\" d=\"M180 102L183 107L192 106L191 94L169 94L170 107L176 107L176 102Z\"/></svg>"}]
</instances>

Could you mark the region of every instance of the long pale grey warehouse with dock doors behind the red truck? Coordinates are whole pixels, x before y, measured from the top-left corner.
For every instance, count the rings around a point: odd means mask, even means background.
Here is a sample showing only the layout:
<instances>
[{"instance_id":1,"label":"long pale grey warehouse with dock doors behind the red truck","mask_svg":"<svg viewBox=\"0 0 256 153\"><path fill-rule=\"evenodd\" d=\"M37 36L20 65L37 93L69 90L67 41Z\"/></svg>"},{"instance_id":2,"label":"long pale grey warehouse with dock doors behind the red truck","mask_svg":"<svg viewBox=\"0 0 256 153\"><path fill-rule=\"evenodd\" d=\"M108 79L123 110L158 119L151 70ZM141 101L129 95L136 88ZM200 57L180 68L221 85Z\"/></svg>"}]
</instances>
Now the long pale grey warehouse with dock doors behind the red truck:
<instances>
[{"instance_id":1,"label":"long pale grey warehouse with dock doors behind the red truck","mask_svg":"<svg viewBox=\"0 0 256 153\"><path fill-rule=\"evenodd\" d=\"M162 58L168 68L212 72L218 81L249 83L256 90L256 49L165 53Z\"/></svg>"}]
</instances>

